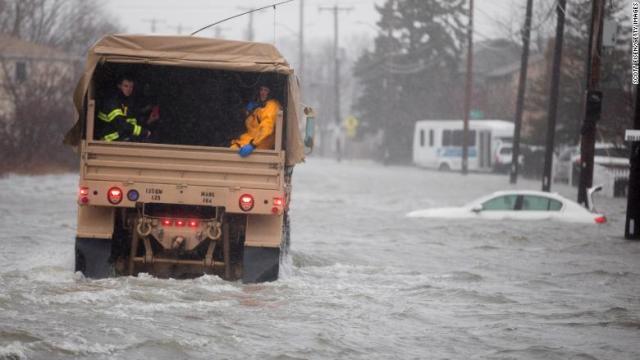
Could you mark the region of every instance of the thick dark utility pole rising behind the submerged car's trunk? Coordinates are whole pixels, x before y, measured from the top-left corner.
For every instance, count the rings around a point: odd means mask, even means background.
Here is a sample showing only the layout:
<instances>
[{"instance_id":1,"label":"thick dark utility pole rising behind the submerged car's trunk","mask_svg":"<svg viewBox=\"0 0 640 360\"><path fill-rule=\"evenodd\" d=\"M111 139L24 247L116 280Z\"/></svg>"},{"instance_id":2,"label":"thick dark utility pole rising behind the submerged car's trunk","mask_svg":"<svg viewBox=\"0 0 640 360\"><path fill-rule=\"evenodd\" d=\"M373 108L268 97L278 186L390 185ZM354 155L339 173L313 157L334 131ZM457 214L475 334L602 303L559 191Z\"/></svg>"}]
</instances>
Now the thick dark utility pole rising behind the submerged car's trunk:
<instances>
[{"instance_id":1,"label":"thick dark utility pole rising behind the submerged car's trunk","mask_svg":"<svg viewBox=\"0 0 640 360\"><path fill-rule=\"evenodd\" d=\"M587 205L587 189L593 185L593 156L596 144L596 124L602 111L600 86L600 55L602 53L602 27L605 0L593 0L589 26L589 53L587 54L587 90L585 92L584 120L580 139L580 182L578 203Z\"/></svg>"}]
</instances>

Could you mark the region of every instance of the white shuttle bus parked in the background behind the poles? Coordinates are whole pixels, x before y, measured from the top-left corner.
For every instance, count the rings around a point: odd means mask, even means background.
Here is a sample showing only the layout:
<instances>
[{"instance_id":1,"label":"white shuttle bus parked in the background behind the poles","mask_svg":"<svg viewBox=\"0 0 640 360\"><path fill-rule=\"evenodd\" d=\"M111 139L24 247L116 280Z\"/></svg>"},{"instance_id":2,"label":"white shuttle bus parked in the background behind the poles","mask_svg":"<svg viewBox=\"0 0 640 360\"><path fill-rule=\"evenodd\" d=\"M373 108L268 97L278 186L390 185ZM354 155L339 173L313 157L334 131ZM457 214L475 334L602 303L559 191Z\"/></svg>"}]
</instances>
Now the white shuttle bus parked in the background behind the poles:
<instances>
[{"instance_id":1,"label":"white shuttle bus parked in the background behind the poles","mask_svg":"<svg viewBox=\"0 0 640 360\"><path fill-rule=\"evenodd\" d=\"M493 170L496 149L511 143L514 125L504 120L470 120L467 168ZM462 120L419 120L413 134L413 163L439 170L462 168Z\"/></svg>"}]
</instances>

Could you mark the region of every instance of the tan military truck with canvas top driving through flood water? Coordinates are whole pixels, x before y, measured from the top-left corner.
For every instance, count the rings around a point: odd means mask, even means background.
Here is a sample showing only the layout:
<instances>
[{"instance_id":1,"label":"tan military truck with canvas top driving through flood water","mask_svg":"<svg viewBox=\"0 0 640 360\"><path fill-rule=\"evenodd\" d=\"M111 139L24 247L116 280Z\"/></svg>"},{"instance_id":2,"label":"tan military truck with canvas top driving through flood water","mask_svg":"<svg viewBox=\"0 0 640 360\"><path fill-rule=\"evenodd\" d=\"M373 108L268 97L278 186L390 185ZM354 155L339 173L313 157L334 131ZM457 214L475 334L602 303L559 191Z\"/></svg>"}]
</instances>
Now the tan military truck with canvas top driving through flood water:
<instances>
[{"instance_id":1,"label":"tan military truck with canvas top driving through flood water","mask_svg":"<svg viewBox=\"0 0 640 360\"><path fill-rule=\"evenodd\" d=\"M139 108L156 104L160 119L148 139L104 141L97 108L125 73L135 79ZM242 132L243 104L264 82L281 104L275 146L242 158L229 140ZM289 244L292 170L305 155L299 99L293 69L270 44L99 40L74 94L79 119L65 138L80 154L76 271L276 280Z\"/></svg>"}]
</instances>

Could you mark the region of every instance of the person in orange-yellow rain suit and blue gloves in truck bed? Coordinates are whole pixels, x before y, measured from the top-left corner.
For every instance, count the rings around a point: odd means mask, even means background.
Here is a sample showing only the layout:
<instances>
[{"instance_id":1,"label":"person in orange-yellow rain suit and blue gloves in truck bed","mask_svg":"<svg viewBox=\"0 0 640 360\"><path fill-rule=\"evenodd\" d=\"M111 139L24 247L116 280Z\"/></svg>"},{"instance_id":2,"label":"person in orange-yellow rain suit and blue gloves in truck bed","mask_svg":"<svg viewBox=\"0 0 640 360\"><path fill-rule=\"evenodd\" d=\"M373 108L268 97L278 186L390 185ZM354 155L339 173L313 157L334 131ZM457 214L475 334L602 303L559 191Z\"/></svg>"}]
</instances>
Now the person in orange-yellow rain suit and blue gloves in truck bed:
<instances>
[{"instance_id":1,"label":"person in orange-yellow rain suit and blue gloves in truck bed","mask_svg":"<svg viewBox=\"0 0 640 360\"><path fill-rule=\"evenodd\" d=\"M280 103L269 98L270 92L268 86L260 86L259 101L247 105L249 116L244 121L246 132L231 140L231 148L239 149L238 154L242 157L249 156L255 149L273 149Z\"/></svg>"}]
</instances>

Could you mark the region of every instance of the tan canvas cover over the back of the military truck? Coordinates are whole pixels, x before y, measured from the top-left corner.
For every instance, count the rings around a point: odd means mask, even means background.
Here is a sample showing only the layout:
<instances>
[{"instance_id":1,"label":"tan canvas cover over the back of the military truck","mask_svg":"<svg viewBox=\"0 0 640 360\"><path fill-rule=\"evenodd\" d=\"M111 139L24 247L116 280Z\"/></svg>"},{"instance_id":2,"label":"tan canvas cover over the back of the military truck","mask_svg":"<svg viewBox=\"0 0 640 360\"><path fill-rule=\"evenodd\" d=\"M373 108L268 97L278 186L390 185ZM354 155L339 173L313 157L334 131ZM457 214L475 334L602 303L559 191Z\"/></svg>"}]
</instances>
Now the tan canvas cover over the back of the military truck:
<instances>
[{"instance_id":1,"label":"tan canvas cover over the back of the military truck","mask_svg":"<svg viewBox=\"0 0 640 360\"><path fill-rule=\"evenodd\" d=\"M270 72L287 76L287 111L285 116L286 163L291 166L304 160L298 119L302 114L300 90L293 69L270 44L202 38L194 36L109 35L99 40L87 54L84 73L74 93L78 114L83 112L89 84L97 64L140 63L215 70ZM67 133L65 143L78 146L83 116Z\"/></svg>"}]
</instances>

